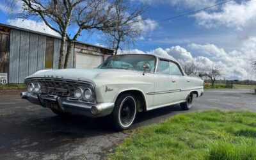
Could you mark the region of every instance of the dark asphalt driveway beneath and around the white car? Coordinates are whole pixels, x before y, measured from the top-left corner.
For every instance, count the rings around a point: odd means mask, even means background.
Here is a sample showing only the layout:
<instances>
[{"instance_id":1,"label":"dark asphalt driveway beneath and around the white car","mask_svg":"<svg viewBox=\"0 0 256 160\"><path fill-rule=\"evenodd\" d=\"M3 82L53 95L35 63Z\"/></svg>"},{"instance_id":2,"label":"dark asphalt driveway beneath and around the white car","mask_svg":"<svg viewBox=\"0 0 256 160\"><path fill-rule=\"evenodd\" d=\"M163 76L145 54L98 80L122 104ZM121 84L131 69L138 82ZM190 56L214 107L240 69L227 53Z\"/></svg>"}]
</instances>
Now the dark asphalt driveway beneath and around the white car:
<instances>
[{"instance_id":1,"label":"dark asphalt driveway beneath and around the white car","mask_svg":"<svg viewBox=\"0 0 256 160\"><path fill-rule=\"evenodd\" d=\"M253 90L206 90L189 111L206 109L256 111ZM155 124L182 111L179 105L137 115L136 127ZM102 159L131 131L115 132L107 118L68 116L0 92L0 159Z\"/></svg>"}]
</instances>

